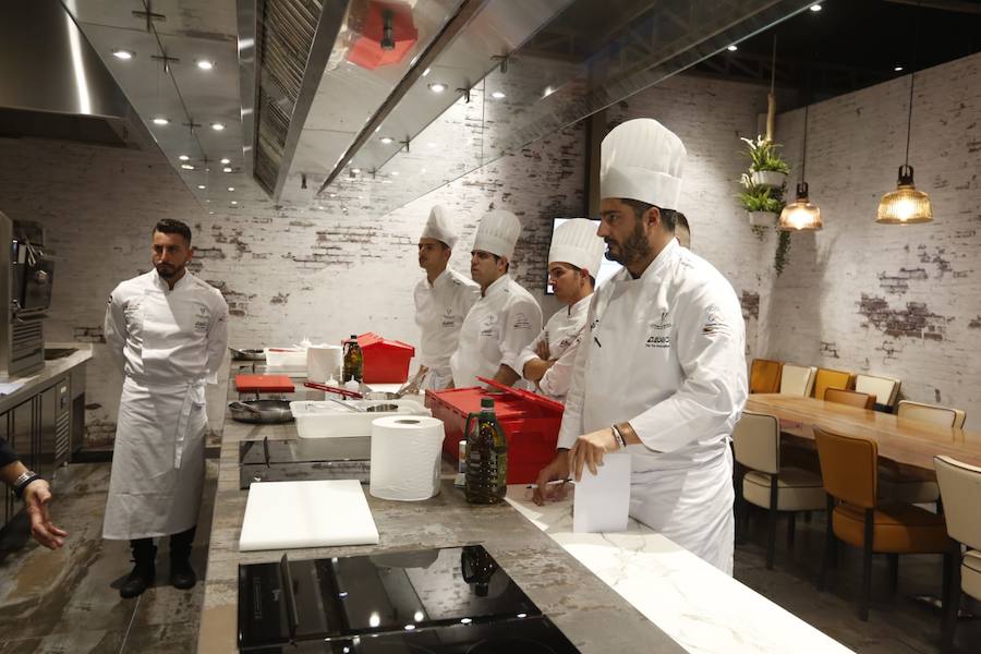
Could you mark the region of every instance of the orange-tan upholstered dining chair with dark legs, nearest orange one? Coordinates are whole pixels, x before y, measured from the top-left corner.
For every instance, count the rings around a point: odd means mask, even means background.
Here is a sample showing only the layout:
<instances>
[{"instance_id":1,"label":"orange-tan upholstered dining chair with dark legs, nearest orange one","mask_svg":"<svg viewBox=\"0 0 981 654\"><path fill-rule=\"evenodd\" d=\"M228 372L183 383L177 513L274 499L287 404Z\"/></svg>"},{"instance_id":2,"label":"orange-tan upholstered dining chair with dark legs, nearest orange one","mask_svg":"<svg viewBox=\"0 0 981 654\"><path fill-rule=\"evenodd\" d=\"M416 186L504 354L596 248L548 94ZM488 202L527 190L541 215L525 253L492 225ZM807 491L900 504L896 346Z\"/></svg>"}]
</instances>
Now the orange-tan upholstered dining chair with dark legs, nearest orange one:
<instances>
[{"instance_id":1,"label":"orange-tan upholstered dining chair with dark legs, nearest orange one","mask_svg":"<svg viewBox=\"0 0 981 654\"><path fill-rule=\"evenodd\" d=\"M825 588L828 567L837 558L838 541L861 548L862 580L858 615L860 619L868 620L872 555L888 556L889 588L893 591L898 584L900 554L942 554L944 565L949 566L950 546L944 517L911 504L880 504L879 447L874 440L845 436L821 427L814 427L814 438L827 493L826 546L818 588ZM946 598L946 583L944 591Z\"/></svg>"}]
</instances>

